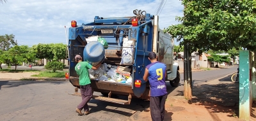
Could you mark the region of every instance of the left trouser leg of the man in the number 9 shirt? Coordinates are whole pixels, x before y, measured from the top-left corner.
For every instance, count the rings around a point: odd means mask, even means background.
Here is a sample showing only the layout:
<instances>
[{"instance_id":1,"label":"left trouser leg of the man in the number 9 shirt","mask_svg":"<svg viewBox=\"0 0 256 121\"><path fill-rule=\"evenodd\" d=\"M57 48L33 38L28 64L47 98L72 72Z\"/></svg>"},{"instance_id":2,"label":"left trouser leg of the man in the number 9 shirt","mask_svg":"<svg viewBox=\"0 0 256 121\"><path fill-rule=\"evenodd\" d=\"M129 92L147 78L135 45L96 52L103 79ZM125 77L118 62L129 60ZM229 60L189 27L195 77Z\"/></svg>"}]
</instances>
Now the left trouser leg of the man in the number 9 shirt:
<instances>
[{"instance_id":1,"label":"left trouser leg of the man in the number 9 shirt","mask_svg":"<svg viewBox=\"0 0 256 121\"><path fill-rule=\"evenodd\" d=\"M160 98L150 96L150 114L152 121L161 120Z\"/></svg>"}]
</instances>

